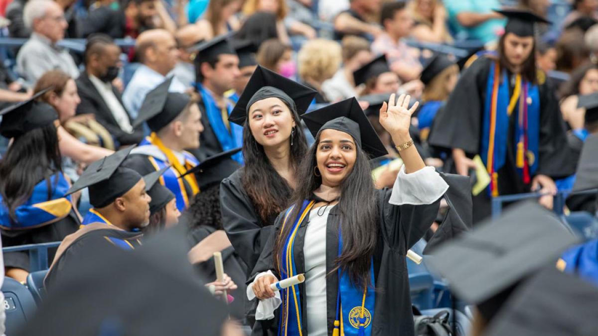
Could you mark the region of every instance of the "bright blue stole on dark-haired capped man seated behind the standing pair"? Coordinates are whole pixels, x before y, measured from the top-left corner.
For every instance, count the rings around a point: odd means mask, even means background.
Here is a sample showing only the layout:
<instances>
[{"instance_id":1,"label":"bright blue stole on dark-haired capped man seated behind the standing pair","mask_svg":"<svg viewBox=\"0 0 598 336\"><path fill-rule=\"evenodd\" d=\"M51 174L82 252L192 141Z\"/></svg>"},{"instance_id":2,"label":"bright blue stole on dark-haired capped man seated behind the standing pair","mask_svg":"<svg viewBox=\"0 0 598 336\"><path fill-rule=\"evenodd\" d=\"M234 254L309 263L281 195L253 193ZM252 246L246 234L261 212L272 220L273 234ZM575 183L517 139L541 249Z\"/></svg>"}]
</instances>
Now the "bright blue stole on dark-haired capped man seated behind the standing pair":
<instances>
[{"instance_id":1,"label":"bright blue stole on dark-haired capped man seated behind the standing pair","mask_svg":"<svg viewBox=\"0 0 598 336\"><path fill-rule=\"evenodd\" d=\"M206 107L206 117L210 122L210 127L214 131L222 151L238 148L243 145L243 127L228 122L228 115L233 111L233 105L227 102L227 109L221 110L216 105L216 100L212 93L206 90L202 84L196 83L197 91L202 95L203 105ZM232 156L234 160L243 164L243 155L241 152Z\"/></svg>"}]
</instances>

